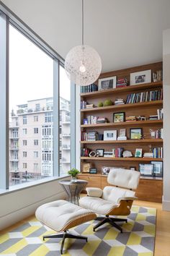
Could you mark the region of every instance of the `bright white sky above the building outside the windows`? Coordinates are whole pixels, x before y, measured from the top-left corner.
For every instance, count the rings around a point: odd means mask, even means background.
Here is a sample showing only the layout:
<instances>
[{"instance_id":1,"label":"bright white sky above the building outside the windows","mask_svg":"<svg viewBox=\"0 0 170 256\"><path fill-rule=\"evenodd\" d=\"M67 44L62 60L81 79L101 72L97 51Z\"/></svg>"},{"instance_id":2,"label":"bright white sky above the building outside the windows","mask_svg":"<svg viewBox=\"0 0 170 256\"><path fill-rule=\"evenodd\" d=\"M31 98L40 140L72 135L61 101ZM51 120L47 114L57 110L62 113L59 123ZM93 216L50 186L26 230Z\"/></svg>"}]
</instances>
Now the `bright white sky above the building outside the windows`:
<instances>
[{"instance_id":1,"label":"bright white sky above the building outside the windows","mask_svg":"<svg viewBox=\"0 0 170 256\"><path fill-rule=\"evenodd\" d=\"M70 80L61 67L61 97L70 99ZM53 59L9 26L9 111L38 98L53 97Z\"/></svg>"}]
</instances>

